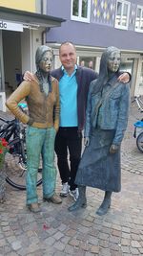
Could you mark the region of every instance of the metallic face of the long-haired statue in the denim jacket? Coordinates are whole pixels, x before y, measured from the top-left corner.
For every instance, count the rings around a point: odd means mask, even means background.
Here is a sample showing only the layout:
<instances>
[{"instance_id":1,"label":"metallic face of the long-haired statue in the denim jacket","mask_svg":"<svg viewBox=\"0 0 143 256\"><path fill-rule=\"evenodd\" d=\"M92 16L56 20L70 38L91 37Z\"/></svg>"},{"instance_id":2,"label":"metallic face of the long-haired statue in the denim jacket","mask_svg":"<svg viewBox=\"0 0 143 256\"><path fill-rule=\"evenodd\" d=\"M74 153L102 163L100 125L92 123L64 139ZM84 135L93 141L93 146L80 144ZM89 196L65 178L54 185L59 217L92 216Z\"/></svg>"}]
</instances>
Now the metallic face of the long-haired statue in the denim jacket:
<instances>
[{"instance_id":1,"label":"metallic face of the long-haired statue in the denim jacket","mask_svg":"<svg viewBox=\"0 0 143 256\"><path fill-rule=\"evenodd\" d=\"M120 66L121 56L120 52L112 51L108 58L108 69L112 72L116 72Z\"/></svg>"}]
</instances>

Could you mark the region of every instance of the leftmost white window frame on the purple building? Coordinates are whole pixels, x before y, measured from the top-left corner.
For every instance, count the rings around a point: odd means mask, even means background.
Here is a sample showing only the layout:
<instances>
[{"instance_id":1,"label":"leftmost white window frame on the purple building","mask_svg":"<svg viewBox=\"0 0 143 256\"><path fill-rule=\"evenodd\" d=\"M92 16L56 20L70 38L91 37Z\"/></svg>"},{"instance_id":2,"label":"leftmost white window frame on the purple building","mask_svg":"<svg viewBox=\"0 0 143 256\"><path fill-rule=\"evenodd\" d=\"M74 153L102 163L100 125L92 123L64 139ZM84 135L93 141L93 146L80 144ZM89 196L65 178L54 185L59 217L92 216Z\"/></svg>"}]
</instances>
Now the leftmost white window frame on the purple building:
<instances>
[{"instance_id":1,"label":"leftmost white window frame on the purple building","mask_svg":"<svg viewBox=\"0 0 143 256\"><path fill-rule=\"evenodd\" d=\"M91 18L91 0L87 0L88 1L88 12L87 12L87 17L84 18L81 16L82 14L82 0L78 0L79 1L79 7L78 7L78 16L75 16L72 14L72 9L73 9L73 0L71 1L71 19L75 20L75 21L81 21L81 22L87 22L90 23L90 18Z\"/></svg>"}]
</instances>

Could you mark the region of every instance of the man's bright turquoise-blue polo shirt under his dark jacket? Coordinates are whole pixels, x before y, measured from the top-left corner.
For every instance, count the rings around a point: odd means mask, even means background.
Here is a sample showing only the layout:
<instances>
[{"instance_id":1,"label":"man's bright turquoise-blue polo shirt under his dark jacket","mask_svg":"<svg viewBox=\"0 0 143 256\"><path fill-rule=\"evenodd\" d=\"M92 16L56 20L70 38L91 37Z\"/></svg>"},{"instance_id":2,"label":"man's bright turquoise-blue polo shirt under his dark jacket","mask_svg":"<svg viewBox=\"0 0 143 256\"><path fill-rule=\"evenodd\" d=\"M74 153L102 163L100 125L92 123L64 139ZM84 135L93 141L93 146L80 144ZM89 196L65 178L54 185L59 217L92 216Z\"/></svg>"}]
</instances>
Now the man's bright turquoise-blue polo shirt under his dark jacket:
<instances>
[{"instance_id":1,"label":"man's bright turquoise-blue polo shirt under his dark jacket","mask_svg":"<svg viewBox=\"0 0 143 256\"><path fill-rule=\"evenodd\" d=\"M60 127L77 127L77 66L71 76L62 66L64 76L59 81L60 93Z\"/></svg>"}]
</instances>

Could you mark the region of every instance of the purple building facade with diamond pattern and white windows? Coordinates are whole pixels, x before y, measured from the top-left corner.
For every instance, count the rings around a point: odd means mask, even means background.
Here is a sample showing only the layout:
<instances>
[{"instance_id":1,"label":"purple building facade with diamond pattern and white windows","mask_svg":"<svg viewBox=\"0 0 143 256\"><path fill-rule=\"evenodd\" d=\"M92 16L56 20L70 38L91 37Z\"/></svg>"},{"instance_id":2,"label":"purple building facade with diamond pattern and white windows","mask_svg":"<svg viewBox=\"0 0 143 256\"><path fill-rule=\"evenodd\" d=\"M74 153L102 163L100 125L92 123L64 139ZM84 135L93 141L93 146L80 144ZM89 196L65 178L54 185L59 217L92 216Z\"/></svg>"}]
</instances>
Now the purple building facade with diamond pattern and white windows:
<instances>
[{"instance_id":1,"label":"purple building facade with diamond pattern and white windows","mask_svg":"<svg viewBox=\"0 0 143 256\"><path fill-rule=\"evenodd\" d=\"M103 50L113 45L121 49L122 69L133 75L132 96L143 94L142 0L48 0L47 14L67 20L47 33L55 67L60 64L58 47L63 41L76 45L79 64L96 71Z\"/></svg>"}]
</instances>

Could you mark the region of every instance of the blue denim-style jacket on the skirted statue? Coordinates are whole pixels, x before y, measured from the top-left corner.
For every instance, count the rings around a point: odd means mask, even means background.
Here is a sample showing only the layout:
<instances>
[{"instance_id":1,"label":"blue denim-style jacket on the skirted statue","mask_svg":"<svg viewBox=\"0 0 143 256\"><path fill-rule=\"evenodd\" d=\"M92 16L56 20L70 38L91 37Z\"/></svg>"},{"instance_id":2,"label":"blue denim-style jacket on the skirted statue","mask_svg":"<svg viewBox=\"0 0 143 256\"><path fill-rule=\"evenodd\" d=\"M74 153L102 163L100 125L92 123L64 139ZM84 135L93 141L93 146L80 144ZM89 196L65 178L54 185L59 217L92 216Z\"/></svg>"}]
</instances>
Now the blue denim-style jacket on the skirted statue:
<instances>
[{"instance_id":1,"label":"blue denim-style jacket on the skirted statue","mask_svg":"<svg viewBox=\"0 0 143 256\"><path fill-rule=\"evenodd\" d=\"M90 136L92 128L115 129L112 144L119 145L128 123L130 85L116 81L116 77L113 77L106 83L102 91L94 93L97 82L98 80L92 81L90 85L85 137ZM109 90L111 91L108 95ZM102 102L101 105L100 102Z\"/></svg>"}]
</instances>

